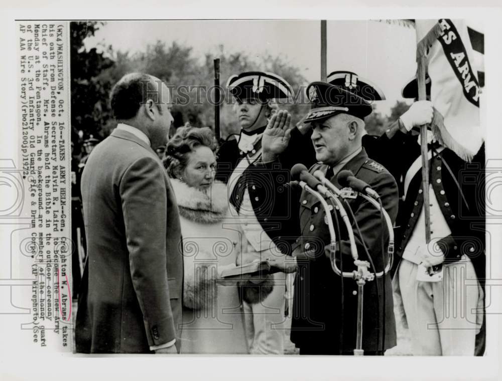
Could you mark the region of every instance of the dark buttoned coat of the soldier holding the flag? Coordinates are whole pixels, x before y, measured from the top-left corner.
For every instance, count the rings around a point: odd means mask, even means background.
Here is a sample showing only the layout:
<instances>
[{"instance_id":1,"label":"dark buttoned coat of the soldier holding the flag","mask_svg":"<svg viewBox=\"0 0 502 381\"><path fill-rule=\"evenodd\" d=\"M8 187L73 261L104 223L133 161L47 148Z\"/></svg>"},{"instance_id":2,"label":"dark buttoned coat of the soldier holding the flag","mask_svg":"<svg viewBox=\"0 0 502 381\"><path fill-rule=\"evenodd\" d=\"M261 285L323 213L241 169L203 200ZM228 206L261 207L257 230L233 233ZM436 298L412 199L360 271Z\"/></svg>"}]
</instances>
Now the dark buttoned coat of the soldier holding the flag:
<instances>
[{"instance_id":1,"label":"dark buttoned coat of the soldier holding the flag","mask_svg":"<svg viewBox=\"0 0 502 381\"><path fill-rule=\"evenodd\" d=\"M384 165L391 166L396 178L406 177L410 165L420 156L417 137L396 132L389 139L386 134L367 142L370 157ZM429 145L431 147L431 145ZM402 156L400 156L400 154ZM402 159L401 159L402 158ZM476 271L476 276L484 287L485 277L485 199L484 199L484 145L471 163L459 158L455 152L444 148L433 150L429 160L429 181L434 189L441 213L451 231L438 241L445 256L445 263L457 262L467 255ZM396 256L393 273L397 269L402 254L417 224L423 206L422 170L412 178L406 198L400 206L396 222ZM434 226L431 226L434 231ZM431 234L434 237L434 233Z\"/></svg>"}]
</instances>

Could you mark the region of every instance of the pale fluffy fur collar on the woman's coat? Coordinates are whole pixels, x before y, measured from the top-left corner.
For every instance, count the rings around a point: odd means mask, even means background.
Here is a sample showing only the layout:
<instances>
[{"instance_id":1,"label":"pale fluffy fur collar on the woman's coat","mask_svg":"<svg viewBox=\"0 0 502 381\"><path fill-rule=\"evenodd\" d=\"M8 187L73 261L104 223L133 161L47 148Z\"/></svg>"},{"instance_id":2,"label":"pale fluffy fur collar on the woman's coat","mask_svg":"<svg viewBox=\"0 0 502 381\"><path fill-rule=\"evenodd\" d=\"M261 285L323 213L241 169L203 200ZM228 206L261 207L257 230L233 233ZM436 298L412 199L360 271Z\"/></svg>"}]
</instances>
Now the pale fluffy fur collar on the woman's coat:
<instances>
[{"instance_id":1,"label":"pale fluffy fur collar on the woman's coat","mask_svg":"<svg viewBox=\"0 0 502 381\"><path fill-rule=\"evenodd\" d=\"M171 184L180 216L200 224L215 224L226 216L228 200L224 183L214 181L207 193L177 178L172 178Z\"/></svg>"}]
</instances>

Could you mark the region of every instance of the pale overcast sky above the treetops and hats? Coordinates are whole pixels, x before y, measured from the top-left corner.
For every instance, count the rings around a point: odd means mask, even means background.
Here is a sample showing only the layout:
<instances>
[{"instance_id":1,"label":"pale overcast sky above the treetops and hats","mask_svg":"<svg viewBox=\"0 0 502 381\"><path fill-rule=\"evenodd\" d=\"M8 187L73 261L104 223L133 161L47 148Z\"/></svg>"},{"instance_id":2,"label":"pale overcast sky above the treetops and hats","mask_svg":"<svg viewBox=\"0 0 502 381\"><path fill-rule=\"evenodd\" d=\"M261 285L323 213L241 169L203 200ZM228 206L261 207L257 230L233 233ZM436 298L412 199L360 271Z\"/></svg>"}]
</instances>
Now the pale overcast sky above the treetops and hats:
<instances>
[{"instance_id":1,"label":"pale overcast sky above the treetops and hats","mask_svg":"<svg viewBox=\"0 0 502 381\"><path fill-rule=\"evenodd\" d=\"M115 51L135 53L157 40L168 46L173 41L191 46L200 59L205 53L219 52L220 45L225 53L280 55L300 68L309 82L320 80L317 20L112 21L86 39L85 46L111 45ZM388 114L415 74L415 41L415 30L401 25L328 21L328 74L349 70L378 85L387 100L378 102L376 110Z\"/></svg>"}]
</instances>

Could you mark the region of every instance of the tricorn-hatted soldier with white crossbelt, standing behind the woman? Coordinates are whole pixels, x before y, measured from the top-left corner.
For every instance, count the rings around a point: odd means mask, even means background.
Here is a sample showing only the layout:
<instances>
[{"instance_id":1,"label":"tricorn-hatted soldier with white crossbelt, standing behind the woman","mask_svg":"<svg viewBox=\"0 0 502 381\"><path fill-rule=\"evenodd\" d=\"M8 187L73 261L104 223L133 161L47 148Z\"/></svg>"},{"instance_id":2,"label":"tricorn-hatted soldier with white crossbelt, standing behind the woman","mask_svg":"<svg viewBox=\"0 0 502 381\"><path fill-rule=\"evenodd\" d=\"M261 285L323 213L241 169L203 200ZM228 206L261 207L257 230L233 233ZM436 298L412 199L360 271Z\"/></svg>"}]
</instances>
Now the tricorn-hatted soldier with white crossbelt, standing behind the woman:
<instances>
[{"instance_id":1,"label":"tricorn-hatted soldier with white crossbelt, standing behind the woman","mask_svg":"<svg viewBox=\"0 0 502 381\"><path fill-rule=\"evenodd\" d=\"M216 178L228 184L229 200L243 231L243 261L263 259L275 250L290 254L291 237L298 226L290 220L290 199L284 183L289 181L293 164L313 162L312 151L304 149L310 144L309 135L299 129L291 132L291 144L282 152L282 166L275 173L278 182L264 171L261 158L262 136L275 111L272 101L287 99L292 88L280 76L258 71L234 75L227 86L236 100L241 130L237 138L221 145ZM250 353L284 353L285 291L282 273L262 284L242 287Z\"/></svg>"}]
</instances>

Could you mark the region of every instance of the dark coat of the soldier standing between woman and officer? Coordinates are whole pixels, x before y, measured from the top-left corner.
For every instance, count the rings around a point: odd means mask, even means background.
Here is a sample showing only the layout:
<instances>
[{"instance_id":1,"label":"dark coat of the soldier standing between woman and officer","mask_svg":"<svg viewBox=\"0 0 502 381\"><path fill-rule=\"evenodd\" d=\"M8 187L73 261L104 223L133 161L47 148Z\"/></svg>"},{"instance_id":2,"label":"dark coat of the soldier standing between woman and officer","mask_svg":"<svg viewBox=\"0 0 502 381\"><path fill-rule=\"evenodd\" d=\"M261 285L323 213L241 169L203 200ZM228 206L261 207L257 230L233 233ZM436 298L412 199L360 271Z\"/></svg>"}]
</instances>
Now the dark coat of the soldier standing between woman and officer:
<instances>
[{"instance_id":1,"label":"dark coat of the soldier standing between woman and officer","mask_svg":"<svg viewBox=\"0 0 502 381\"><path fill-rule=\"evenodd\" d=\"M291 132L288 148L270 168L261 160L249 165L238 177L229 195L230 202L239 211L245 189L255 215L270 239L284 254L291 254L291 246L298 237L298 209L291 199L291 188L285 186L291 180L291 167L303 163L307 167L315 162L315 151L310 140L311 131L303 134L298 128ZM261 149L261 140L255 149ZM236 140L228 140L218 150L216 178L227 183L240 160L246 160L239 152Z\"/></svg>"}]
</instances>

